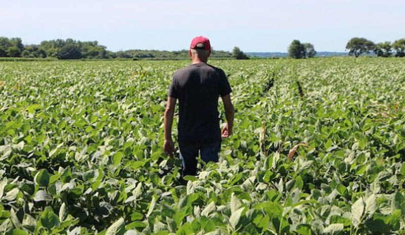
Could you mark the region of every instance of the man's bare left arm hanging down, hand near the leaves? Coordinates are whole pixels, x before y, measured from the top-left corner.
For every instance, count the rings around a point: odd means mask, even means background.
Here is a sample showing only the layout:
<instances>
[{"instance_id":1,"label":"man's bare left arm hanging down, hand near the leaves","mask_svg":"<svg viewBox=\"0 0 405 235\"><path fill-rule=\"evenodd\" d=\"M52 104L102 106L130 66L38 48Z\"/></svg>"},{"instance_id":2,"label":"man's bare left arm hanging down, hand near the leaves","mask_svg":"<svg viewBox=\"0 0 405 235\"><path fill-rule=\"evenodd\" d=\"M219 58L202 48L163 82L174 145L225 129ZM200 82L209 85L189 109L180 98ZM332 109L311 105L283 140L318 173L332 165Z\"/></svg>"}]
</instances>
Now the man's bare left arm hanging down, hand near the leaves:
<instances>
[{"instance_id":1,"label":"man's bare left arm hanging down, hand near the leaves","mask_svg":"<svg viewBox=\"0 0 405 235\"><path fill-rule=\"evenodd\" d=\"M165 153L168 155L173 155L175 152L174 149L174 144L172 140L172 125L173 125L173 116L174 116L174 109L176 107L176 101L177 99L168 97L168 103L166 105L166 110L165 110L165 119L164 119L164 125L165 125L165 144L164 144L164 150Z\"/></svg>"}]
</instances>

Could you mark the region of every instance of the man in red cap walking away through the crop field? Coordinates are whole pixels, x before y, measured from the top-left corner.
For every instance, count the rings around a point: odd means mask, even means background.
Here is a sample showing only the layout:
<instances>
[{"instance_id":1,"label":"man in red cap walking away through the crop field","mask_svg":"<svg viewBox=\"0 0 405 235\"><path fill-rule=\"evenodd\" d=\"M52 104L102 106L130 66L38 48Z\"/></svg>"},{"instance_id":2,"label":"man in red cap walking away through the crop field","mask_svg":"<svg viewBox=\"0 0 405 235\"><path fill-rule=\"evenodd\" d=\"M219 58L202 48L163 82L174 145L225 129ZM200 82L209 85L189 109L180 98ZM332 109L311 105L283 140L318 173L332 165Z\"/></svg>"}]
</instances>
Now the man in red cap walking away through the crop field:
<instances>
[{"instance_id":1,"label":"man in red cap walking away through the crop field","mask_svg":"<svg viewBox=\"0 0 405 235\"><path fill-rule=\"evenodd\" d=\"M176 101L179 100L178 142L183 176L196 175L198 152L203 161L218 162L221 137L232 134L232 90L224 71L207 64L210 54L211 45L208 38L193 38L189 50L192 63L175 72L169 88L164 121L164 150L169 155L175 152L172 124ZM222 132L218 117L219 97L224 103L227 120Z\"/></svg>"}]
</instances>

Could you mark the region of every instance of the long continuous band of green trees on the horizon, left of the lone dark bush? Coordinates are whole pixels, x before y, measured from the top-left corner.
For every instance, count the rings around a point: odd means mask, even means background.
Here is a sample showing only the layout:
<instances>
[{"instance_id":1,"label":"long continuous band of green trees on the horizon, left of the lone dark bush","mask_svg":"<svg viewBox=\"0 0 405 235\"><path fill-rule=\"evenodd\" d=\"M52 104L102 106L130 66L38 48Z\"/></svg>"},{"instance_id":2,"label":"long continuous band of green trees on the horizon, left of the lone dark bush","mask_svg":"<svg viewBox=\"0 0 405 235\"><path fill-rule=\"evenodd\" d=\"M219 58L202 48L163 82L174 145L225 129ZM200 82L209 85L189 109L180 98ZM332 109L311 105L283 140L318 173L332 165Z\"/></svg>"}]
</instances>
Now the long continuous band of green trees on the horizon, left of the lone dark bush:
<instances>
[{"instance_id":1,"label":"long continuous band of green trees on the horizon, left of the lone dark bush","mask_svg":"<svg viewBox=\"0 0 405 235\"><path fill-rule=\"evenodd\" d=\"M24 45L19 37L0 37L0 57L57 58L57 59L140 59L140 58L187 58L188 50L157 51L127 50L111 52L98 41L68 39L44 40L40 44ZM229 58L232 54L213 51L212 57Z\"/></svg>"}]
</instances>

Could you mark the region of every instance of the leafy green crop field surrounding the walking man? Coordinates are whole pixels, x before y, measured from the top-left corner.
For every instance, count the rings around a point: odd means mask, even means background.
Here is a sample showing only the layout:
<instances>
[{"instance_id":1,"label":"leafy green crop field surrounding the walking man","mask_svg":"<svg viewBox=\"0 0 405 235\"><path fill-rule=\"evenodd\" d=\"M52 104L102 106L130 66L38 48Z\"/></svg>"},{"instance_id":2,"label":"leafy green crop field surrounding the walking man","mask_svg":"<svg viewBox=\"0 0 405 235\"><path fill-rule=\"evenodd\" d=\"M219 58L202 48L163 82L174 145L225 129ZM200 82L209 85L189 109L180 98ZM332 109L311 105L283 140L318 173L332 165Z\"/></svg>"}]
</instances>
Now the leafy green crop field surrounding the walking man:
<instances>
[{"instance_id":1,"label":"leafy green crop field surrounding the walking man","mask_svg":"<svg viewBox=\"0 0 405 235\"><path fill-rule=\"evenodd\" d=\"M162 123L187 64L0 62L0 233L405 234L404 59L212 61L234 135L185 186Z\"/></svg>"}]
</instances>

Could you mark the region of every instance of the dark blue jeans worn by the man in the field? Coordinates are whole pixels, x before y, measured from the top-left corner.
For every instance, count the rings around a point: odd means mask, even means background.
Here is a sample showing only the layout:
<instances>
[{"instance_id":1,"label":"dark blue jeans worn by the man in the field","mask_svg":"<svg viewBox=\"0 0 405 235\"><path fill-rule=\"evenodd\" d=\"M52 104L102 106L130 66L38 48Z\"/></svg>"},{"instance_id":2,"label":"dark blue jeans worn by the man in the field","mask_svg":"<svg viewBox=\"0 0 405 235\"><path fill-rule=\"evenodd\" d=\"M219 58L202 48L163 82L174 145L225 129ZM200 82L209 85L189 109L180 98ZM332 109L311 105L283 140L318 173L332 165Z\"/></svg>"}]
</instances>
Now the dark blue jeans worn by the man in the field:
<instances>
[{"instance_id":1,"label":"dark blue jeans worn by the man in the field","mask_svg":"<svg viewBox=\"0 0 405 235\"><path fill-rule=\"evenodd\" d=\"M180 159L183 168L183 176L197 174L198 151L201 159L206 163L218 162L218 155L221 152L221 143L215 143L210 146L179 146Z\"/></svg>"}]
</instances>

